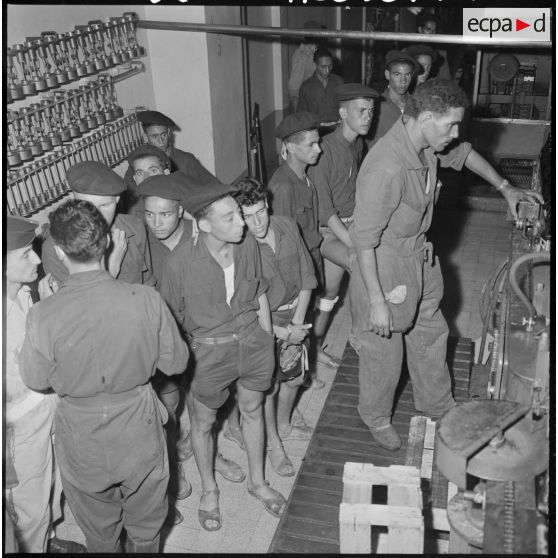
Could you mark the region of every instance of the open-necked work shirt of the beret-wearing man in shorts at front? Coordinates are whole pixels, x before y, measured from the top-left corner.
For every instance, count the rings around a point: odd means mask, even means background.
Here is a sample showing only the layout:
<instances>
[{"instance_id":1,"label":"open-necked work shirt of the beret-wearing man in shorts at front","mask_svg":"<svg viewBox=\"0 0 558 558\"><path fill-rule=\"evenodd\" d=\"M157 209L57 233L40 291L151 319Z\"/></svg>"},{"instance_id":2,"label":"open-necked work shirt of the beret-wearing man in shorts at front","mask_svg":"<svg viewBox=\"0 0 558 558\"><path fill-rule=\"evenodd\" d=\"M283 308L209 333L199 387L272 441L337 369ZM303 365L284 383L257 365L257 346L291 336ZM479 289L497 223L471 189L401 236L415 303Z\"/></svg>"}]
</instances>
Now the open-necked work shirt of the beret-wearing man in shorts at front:
<instances>
[{"instance_id":1,"label":"open-necked work shirt of the beret-wearing man in shorts at front","mask_svg":"<svg viewBox=\"0 0 558 558\"><path fill-rule=\"evenodd\" d=\"M258 299L268 287L256 239L248 232L240 244L233 244L234 294L229 306L223 268L209 252L204 235L200 232L196 240L190 235L168 256L160 292L191 336L242 333L257 320Z\"/></svg>"}]
</instances>

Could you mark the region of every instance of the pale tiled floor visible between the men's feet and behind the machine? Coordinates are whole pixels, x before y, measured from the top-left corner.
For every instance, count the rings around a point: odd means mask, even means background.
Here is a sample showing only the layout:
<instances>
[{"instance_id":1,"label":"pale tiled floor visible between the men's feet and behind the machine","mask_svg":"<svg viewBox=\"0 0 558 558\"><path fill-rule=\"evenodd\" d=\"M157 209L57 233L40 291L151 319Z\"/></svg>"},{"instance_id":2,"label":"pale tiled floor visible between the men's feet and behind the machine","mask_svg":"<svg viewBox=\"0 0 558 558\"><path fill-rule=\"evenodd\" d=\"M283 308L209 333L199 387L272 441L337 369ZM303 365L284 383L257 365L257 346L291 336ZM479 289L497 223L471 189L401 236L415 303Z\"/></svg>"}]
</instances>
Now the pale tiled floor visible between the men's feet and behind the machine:
<instances>
[{"instance_id":1,"label":"pale tiled floor visible between the men's feet and behind the machine","mask_svg":"<svg viewBox=\"0 0 558 558\"><path fill-rule=\"evenodd\" d=\"M443 310L451 335L471 339L480 336L480 292L484 281L507 256L510 227L504 213L437 209L430 237L444 273L446 291ZM333 319L326 339L329 350L334 355L343 354L349 329L350 315L345 300ZM326 381L326 387L322 390L306 390L299 404L299 409L311 425L318 420L335 374L328 369L320 369L318 373ZM219 433L218 445L226 457L234 459L247 470L246 454L223 438L222 432ZM285 443L285 449L297 471L307 445L308 442L301 441ZM233 484L218 476L223 525L219 531L207 532L198 522L197 506L201 488L194 459L184 464L184 471L192 482L193 492L189 498L178 504L184 516L183 523L164 531L163 552L267 552L279 520L266 513L262 504L248 494L246 482ZM271 486L288 498L296 476L279 477L269 463L266 476ZM65 521L58 526L57 535L84 542L83 534L67 506Z\"/></svg>"}]
</instances>

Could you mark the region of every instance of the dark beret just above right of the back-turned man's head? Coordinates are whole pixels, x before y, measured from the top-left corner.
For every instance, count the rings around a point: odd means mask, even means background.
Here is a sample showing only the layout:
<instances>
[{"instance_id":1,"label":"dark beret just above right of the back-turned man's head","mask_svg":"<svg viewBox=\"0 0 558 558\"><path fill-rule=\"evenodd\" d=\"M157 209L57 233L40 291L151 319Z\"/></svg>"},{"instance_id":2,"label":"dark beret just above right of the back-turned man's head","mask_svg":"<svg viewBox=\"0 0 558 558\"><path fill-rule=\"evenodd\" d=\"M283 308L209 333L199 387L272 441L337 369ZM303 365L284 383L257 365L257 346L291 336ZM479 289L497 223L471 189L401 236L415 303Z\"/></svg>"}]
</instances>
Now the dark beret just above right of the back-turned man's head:
<instances>
[{"instance_id":1,"label":"dark beret just above right of the back-turned man's head","mask_svg":"<svg viewBox=\"0 0 558 558\"><path fill-rule=\"evenodd\" d=\"M68 169L66 179L78 194L118 196L126 190L126 183L112 169L98 161L84 161Z\"/></svg>"}]
</instances>

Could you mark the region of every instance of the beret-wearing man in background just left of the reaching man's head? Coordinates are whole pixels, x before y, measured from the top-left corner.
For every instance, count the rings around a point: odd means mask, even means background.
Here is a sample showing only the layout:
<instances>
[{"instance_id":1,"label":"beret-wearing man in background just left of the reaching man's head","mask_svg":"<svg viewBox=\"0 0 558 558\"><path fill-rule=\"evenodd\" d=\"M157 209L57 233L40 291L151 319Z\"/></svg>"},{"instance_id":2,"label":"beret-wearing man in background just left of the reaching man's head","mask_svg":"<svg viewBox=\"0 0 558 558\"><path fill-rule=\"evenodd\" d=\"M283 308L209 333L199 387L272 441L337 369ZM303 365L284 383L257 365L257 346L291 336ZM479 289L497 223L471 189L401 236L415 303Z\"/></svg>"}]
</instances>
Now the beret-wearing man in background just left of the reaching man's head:
<instances>
[{"instance_id":1,"label":"beret-wearing man in background just left of the reaching man's head","mask_svg":"<svg viewBox=\"0 0 558 558\"><path fill-rule=\"evenodd\" d=\"M388 86L378 99L376 117L372 123L368 148L370 149L398 120L401 119L410 93L413 76L419 69L418 62L410 55L399 50L386 54L385 78Z\"/></svg>"}]
</instances>

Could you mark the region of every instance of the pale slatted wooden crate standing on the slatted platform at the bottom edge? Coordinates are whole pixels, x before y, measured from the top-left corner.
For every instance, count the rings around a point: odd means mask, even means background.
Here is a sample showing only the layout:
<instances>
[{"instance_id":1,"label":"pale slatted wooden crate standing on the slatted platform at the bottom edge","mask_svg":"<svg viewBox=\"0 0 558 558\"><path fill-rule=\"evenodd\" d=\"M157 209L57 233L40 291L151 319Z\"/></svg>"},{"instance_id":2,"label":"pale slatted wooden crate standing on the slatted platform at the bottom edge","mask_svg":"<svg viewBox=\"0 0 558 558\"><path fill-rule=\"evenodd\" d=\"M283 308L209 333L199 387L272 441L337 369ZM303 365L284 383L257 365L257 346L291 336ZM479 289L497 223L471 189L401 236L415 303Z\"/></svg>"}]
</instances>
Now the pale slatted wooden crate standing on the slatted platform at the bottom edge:
<instances>
[{"instance_id":1,"label":"pale slatted wooden crate standing on the slatted platform at the bottom edge","mask_svg":"<svg viewBox=\"0 0 558 558\"><path fill-rule=\"evenodd\" d=\"M374 486L387 486L387 505L372 503ZM341 553L370 554L372 526L388 528L387 536L378 538L376 553L422 554L424 521L416 467L345 463L339 510Z\"/></svg>"}]
</instances>

